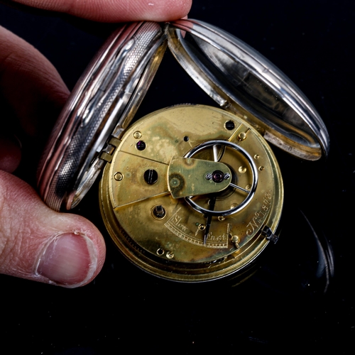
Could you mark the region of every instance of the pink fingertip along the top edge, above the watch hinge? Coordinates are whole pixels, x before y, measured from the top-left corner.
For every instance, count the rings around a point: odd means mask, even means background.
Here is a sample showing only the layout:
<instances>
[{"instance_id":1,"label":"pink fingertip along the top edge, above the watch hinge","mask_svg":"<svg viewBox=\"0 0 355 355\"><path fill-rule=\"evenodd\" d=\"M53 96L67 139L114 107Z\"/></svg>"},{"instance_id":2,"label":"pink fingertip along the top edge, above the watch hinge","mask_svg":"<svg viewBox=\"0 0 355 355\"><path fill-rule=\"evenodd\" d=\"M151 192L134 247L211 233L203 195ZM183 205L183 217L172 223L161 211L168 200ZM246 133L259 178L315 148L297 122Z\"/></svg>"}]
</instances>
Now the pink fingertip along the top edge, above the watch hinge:
<instances>
[{"instance_id":1,"label":"pink fingertip along the top edge, above the watch hinge","mask_svg":"<svg viewBox=\"0 0 355 355\"><path fill-rule=\"evenodd\" d=\"M16 0L21 4L70 13L94 21L169 21L190 11L192 0Z\"/></svg>"}]
</instances>

